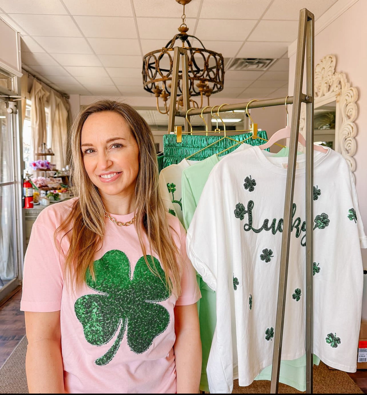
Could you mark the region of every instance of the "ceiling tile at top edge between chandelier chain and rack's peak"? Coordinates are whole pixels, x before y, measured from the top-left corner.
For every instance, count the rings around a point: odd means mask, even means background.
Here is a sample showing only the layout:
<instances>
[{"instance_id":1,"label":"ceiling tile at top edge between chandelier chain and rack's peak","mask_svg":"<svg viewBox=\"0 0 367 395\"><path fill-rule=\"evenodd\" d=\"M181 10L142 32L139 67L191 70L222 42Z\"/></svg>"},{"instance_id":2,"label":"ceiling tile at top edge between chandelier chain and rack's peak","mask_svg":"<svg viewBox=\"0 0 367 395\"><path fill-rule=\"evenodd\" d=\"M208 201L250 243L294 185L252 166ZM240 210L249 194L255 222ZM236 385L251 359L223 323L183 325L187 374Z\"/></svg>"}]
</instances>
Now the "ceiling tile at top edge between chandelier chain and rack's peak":
<instances>
[{"instance_id":1,"label":"ceiling tile at top edge between chandelier chain and rack's peak","mask_svg":"<svg viewBox=\"0 0 367 395\"><path fill-rule=\"evenodd\" d=\"M200 18L259 19L271 0L204 0ZM189 7L189 6L188 6ZM187 7L187 8L188 8Z\"/></svg>"}]
</instances>

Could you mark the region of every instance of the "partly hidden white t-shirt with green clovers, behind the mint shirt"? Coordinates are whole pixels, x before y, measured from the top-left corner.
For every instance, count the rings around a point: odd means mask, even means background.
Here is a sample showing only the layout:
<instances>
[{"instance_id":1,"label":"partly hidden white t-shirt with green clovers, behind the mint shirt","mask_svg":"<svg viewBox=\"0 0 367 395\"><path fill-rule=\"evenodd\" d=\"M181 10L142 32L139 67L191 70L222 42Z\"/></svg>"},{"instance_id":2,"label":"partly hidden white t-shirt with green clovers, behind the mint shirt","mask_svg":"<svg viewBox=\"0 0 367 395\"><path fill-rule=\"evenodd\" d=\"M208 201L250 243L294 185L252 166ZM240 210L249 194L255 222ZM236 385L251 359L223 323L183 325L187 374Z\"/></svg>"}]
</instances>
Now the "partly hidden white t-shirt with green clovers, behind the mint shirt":
<instances>
[{"instance_id":1,"label":"partly hidden white t-shirt with green clovers, behind the mint shirt","mask_svg":"<svg viewBox=\"0 0 367 395\"><path fill-rule=\"evenodd\" d=\"M181 179L182 172L190 165L198 163L195 160L183 159L177 165L170 165L159 173L158 188L164 207L171 214L177 216L183 222Z\"/></svg>"}]
</instances>

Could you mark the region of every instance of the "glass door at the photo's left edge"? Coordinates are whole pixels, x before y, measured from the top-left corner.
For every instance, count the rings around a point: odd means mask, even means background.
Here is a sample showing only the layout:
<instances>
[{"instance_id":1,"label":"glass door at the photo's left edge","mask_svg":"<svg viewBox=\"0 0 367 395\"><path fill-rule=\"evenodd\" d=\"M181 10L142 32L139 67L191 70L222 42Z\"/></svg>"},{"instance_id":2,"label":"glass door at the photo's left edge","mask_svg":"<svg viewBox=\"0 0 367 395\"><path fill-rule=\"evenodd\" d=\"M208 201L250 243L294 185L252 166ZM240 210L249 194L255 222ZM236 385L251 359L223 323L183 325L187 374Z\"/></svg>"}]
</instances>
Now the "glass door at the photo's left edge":
<instances>
[{"instance_id":1,"label":"glass door at the photo's left edge","mask_svg":"<svg viewBox=\"0 0 367 395\"><path fill-rule=\"evenodd\" d=\"M20 284L22 232L16 177L17 118L0 100L0 301ZM18 229L19 228L19 229Z\"/></svg>"}]
</instances>

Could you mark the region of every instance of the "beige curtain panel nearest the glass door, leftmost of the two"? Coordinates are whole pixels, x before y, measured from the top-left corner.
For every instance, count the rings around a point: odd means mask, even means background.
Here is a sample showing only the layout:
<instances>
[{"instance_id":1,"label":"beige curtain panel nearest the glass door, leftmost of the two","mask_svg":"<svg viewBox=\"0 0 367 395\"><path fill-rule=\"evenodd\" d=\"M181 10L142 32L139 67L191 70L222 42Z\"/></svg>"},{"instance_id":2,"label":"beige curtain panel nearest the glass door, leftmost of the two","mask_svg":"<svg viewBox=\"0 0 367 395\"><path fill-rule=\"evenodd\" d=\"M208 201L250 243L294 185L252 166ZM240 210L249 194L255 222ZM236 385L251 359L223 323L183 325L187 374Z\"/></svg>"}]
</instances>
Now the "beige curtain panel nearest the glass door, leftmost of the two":
<instances>
[{"instance_id":1,"label":"beige curtain panel nearest the glass door, leftmost of the two","mask_svg":"<svg viewBox=\"0 0 367 395\"><path fill-rule=\"evenodd\" d=\"M45 159L44 157L36 157L38 147L42 143L46 143L46 113L45 102L49 93L43 89L42 85L34 79L31 90L31 128L32 138L30 147L30 160Z\"/></svg>"}]
</instances>

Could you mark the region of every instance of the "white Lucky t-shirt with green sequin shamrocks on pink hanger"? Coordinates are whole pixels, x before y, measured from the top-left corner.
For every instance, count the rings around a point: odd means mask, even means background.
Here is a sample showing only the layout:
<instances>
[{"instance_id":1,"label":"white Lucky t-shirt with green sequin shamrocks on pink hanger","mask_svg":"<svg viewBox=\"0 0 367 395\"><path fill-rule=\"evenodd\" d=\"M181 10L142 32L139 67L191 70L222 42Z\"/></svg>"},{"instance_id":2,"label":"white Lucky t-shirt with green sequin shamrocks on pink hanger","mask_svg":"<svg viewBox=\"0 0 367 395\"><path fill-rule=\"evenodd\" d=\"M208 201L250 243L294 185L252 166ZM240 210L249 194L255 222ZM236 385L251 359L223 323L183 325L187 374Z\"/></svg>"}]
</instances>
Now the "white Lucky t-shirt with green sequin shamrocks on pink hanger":
<instances>
[{"instance_id":1,"label":"white Lucky t-shirt with green sequin shamrocks on pink hanger","mask_svg":"<svg viewBox=\"0 0 367 395\"><path fill-rule=\"evenodd\" d=\"M211 393L231 393L272 363L287 166L251 147L211 171L187 233L187 252L217 295L207 365ZM314 154L314 343L327 365L356 371L367 248L345 159ZM297 157L281 359L305 353L305 155Z\"/></svg>"}]
</instances>

